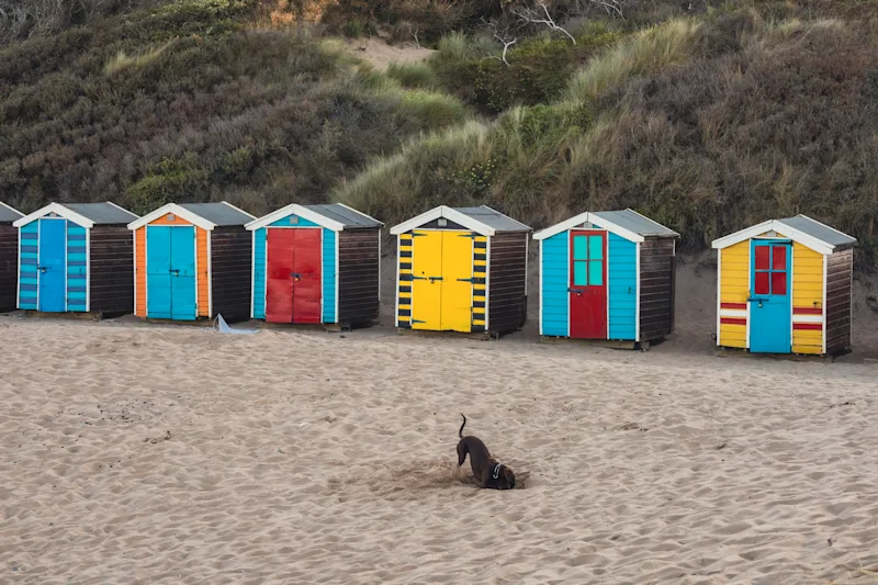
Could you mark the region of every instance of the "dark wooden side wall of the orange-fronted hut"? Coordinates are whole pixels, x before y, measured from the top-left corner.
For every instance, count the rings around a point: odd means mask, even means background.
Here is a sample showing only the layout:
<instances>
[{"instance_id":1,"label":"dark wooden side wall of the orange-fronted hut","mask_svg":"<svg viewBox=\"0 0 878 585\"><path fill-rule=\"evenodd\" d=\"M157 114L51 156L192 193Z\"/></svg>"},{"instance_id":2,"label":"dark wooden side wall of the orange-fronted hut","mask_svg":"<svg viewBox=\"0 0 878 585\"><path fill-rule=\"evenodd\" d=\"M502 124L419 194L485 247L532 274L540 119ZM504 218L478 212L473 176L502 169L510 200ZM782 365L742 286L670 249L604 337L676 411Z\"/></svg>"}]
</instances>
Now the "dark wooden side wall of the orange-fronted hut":
<instances>
[{"instance_id":1,"label":"dark wooden side wall of the orange-fronted hut","mask_svg":"<svg viewBox=\"0 0 878 585\"><path fill-rule=\"evenodd\" d=\"M232 320L250 318L252 232L244 226L216 227L211 238L213 314Z\"/></svg>"}]
</instances>

